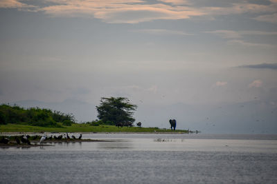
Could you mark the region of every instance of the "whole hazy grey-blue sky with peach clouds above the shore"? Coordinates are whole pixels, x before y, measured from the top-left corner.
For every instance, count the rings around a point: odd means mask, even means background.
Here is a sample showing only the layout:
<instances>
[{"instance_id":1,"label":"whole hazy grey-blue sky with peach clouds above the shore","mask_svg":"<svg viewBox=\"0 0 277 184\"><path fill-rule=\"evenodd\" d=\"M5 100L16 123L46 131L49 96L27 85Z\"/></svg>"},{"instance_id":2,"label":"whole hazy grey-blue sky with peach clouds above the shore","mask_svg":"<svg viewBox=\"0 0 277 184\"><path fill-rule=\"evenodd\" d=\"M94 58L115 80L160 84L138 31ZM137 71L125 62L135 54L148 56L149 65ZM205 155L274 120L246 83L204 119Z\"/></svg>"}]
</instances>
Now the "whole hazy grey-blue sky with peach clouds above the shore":
<instances>
[{"instance_id":1,"label":"whole hazy grey-blue sky with peach clouds above the shore","mask_svg":"<svg viewBox=\"0 0 277 184\"><path fill-rule=\"evenodd\" d=\"M276 51L276 0L0 0L0 103L81 122L124 96L145 127L277 134Z\"/></svg>"}]
</instances>

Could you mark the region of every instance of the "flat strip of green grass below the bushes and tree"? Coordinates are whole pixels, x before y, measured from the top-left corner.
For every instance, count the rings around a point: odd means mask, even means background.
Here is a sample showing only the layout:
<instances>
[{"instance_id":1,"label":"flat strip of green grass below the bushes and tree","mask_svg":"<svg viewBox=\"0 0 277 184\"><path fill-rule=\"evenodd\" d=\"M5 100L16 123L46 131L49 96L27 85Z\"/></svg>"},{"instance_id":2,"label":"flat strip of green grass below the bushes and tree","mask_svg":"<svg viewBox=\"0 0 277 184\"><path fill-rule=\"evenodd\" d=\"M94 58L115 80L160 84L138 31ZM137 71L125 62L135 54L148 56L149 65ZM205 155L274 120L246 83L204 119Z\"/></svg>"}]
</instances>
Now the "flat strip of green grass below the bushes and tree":
<instances>
[{"instance_id":1,"label":"flat strip of green grass below the bushes and tree","mask_svg":"<svg viewBox=\"0 0 277 184\"><path fill-rule=\"evenodd\" d=\"M39 127L31 125L0 125L0 132L176 132L188 133L188 130L159 129L158 127L116 127L114 125L91 126L74 123L64 127Z\"/></svg>"}]
</instances>

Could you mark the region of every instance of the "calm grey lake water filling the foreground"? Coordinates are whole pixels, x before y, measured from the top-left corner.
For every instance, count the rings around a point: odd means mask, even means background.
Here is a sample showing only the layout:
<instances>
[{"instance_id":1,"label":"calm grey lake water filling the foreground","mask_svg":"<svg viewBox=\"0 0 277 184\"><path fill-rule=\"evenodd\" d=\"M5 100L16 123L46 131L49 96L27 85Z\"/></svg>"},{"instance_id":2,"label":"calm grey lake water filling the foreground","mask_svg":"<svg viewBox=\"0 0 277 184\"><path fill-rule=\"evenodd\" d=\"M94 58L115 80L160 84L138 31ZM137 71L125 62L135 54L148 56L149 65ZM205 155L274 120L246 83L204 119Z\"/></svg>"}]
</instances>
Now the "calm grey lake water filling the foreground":
<instances>
[{"instance_id":1,"label":"calm grey lake water filling the foreground","mask_svg":"<svg viewBox=\"0 0 277 184\"><path fill-rule=\"evenodd\" d=\"M110 141L0 148L0 183L277 183L277 135L83 138Z\"/></svg>"}]
</instances>

